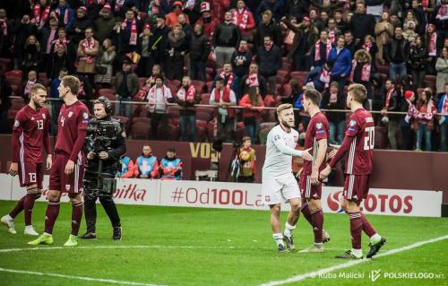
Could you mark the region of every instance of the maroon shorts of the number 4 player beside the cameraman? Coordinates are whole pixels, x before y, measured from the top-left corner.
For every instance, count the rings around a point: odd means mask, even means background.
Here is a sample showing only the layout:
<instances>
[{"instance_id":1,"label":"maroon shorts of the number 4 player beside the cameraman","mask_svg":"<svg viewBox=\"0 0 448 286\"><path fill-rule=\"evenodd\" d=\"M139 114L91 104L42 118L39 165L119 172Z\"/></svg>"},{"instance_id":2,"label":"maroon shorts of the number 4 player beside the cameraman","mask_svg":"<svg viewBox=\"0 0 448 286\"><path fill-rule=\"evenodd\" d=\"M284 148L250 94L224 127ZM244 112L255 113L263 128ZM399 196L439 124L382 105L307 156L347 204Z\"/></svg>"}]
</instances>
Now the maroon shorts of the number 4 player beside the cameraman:
<instances>
[{"instance_id":1,"label":"maroon shorts of the number 4 player beside the cameraman","mask_svg":"<svg viewBox=\"0 0 448 286\"><path fill-rule=\"evenodd\" d=\"M74 164L72 174L65 175L65 165L68 157L61 154L55 155L50 171L49 189L63 193L82 193L82 179L84 178L84 166Z\"/></svg>"}]
</instances>

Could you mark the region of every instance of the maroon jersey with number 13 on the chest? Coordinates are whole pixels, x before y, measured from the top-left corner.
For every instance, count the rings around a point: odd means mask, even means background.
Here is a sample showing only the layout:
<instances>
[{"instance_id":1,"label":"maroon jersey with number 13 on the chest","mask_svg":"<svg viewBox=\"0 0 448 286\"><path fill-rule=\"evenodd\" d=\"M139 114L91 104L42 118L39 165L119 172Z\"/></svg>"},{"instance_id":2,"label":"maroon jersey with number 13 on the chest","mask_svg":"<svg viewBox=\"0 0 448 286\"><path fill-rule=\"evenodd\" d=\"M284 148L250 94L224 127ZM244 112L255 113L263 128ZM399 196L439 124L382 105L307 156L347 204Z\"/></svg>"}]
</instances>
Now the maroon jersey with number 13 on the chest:
<instances>
[{"instance_id":1,"label":"maroon jersey with number 13 on the chest","mask_svg":"<svg viewBox=\"0 0 448 286\"><path fill-rule=\"evenodd\" d=\"M49 126L50 113L45 107L34 110L26 105L17 112L11 142L14 163L43 162L44 148L51 153Z\"/></svg>"}]
</instances>

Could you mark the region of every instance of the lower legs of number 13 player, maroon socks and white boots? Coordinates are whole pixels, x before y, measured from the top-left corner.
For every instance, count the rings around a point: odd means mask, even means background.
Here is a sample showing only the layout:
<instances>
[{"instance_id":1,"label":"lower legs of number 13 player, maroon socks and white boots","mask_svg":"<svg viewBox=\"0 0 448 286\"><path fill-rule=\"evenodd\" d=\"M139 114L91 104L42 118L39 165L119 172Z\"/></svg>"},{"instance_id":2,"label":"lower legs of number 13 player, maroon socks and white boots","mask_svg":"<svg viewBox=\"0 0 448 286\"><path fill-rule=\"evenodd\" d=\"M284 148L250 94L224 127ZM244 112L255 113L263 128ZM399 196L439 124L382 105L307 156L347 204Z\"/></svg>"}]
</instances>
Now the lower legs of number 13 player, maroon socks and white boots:
<instances>
[{"instance_id":1,"label":"lower legs of number 13 player, maroon socks and white boots","mask_svg":"<svg viewBox=\"0 0 448 286\"><path fill-rule=\"evenodd\" d=\"M39 199L42 194L42 190L39 189L37 184L27 186L27 195L23 195L22 198L15 204L13 211L2 217L1 222L8 228L8 231L12 234L16 234L14 229L14 218L22 211L24 211L25 218L25 230L24 234L37 236L39 235L36 230L33 229L31 223L31 214L34 207L34 202Z\"/></svg>"}]
</instances>

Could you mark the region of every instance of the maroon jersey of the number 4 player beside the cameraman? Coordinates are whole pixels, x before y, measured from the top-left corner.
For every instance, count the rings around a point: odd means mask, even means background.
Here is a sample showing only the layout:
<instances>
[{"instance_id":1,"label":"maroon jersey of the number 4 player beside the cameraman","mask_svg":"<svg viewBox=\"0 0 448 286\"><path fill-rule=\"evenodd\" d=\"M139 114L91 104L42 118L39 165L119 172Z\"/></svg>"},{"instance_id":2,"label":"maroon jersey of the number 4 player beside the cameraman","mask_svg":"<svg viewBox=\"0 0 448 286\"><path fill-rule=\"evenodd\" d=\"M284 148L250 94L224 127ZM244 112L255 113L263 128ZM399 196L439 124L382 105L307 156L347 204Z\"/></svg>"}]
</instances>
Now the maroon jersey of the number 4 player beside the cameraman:
<instances>
[{"instance_id":1,"label":"maroon jersey of the number 4 player beside the cameraman","mask_svg":"<svg viewBox=\"0 0 448 286\"><path fill-rule=\"evenodd\" d=\"M55 152L64 154L75 163L84 163L82 145L89 124L89 109L80 101L63 105L57 119Z\"/></svg>"}]
</instances>

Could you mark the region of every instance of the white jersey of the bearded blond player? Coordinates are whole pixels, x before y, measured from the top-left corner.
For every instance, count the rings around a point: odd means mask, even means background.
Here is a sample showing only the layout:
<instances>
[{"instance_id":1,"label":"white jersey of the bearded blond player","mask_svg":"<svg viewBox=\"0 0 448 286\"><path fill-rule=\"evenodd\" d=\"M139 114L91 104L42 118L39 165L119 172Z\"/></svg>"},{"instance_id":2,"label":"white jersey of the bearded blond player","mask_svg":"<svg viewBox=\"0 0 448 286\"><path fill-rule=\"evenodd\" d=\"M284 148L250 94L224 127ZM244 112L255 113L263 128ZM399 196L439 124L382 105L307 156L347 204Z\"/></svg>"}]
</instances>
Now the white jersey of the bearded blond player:
<instances>
[{"instance_id":1,"label":"white jersey of the bearded blond player","mask_svg":"<svg viewBox=\"0 0 448 286\"><path fill-rule=\"evenodd\" d=\"M287 133L278 125L271 129L266 142L263 164L264 178L288 178L292 174L292 156L301 156L296 150L298 132L291 128Z\"/></svg>"}]
</instances>

